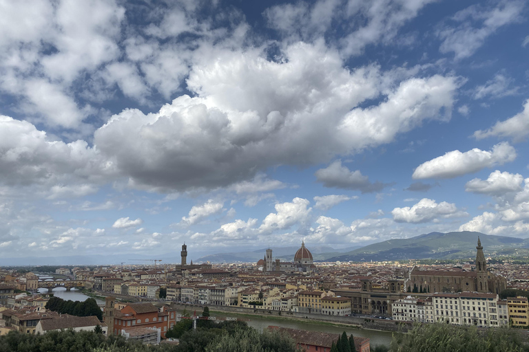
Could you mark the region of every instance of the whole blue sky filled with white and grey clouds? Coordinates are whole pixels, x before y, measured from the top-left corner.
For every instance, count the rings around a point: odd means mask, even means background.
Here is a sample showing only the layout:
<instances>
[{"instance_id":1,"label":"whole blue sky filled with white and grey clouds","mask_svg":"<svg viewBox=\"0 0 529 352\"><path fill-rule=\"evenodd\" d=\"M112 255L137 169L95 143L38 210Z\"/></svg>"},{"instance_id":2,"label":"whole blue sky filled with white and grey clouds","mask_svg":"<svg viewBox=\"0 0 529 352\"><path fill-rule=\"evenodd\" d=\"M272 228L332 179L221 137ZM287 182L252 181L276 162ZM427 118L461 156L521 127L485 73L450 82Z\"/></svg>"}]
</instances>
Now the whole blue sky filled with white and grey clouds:
<instances>
[{"instance_id":1,"label":"whole blue sky filled with white and grey clouds","mask_svg":"<svg viewBox=\"0 0 529 352\"><path fill-rule=\"evenodd\" d=\"M529 3L0 0L0 256L529 237Z\"/></svg>"}]
</instances>

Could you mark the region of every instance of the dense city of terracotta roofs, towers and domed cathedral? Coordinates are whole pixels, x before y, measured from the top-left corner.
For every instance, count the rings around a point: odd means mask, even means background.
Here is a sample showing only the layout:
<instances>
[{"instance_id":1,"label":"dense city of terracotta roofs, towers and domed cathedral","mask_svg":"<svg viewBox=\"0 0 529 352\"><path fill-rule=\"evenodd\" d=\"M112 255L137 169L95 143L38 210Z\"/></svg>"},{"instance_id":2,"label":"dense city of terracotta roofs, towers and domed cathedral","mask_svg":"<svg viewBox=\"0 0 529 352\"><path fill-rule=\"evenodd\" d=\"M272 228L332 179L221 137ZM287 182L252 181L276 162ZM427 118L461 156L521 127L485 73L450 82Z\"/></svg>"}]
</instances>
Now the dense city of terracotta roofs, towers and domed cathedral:
<instances>
[{"instance_id":1,"label":"dense city of terracotta roofs, towers and domed cathedral","mask_svg":"<svg viewBox=\"0 0 529 352\"><path fill-rule=\"evenodd\" d=\"M527 265L489 265L479 239L476 249L473 263L315 263L302 243L291 262L274 259L273 251L266 250L258 263L211 265L187 263L187 245L182 245L177 265L153 260L154 265L57 267L48 276L6 268L0 271L0 331L40 334L98 326L105 334L159 344L172 341L167 331L187 318L183 311L194 311L189 319L196 324L196 311L204 307L386 331L410 329L413 322L527 328L528 298L513 296L529 288ZM81 317L86 308L63 315L51 307L61 300L52 289L81 290L105 301L101 311L96 308L98 316ZM281 329L311 351L310 331ZM330 351L336 341L329 336L319 346L314 342L314 348ZM370 350L369 338L355 339L357 351Z\"/></svg>"}]
</instances>

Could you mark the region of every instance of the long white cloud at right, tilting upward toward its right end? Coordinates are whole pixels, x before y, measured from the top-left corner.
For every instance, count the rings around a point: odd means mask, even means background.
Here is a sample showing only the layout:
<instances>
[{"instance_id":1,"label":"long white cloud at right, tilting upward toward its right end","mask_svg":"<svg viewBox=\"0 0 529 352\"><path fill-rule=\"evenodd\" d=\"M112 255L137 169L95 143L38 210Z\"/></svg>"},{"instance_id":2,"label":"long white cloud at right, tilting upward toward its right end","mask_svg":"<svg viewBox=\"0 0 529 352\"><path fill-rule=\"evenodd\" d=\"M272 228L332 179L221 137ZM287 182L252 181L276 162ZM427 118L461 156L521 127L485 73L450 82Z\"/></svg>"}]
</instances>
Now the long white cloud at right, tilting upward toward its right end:
<instances>
[{"instance_id":1,"label":"long white cloud at right, tilting upward toward its right end","mask_svg":"<svg viewBox=\"0 0 529 352\"><path fill-rule=\"evenodd\" d=\"M504 142L492 147L492 151L481 151L473 148L470 151L449 151L443 156L431 159L417 166L413 179L441 178L447 179L475 173L482 168L503 165L516 158L515 148Z\"/></svg>"}]
</instances>

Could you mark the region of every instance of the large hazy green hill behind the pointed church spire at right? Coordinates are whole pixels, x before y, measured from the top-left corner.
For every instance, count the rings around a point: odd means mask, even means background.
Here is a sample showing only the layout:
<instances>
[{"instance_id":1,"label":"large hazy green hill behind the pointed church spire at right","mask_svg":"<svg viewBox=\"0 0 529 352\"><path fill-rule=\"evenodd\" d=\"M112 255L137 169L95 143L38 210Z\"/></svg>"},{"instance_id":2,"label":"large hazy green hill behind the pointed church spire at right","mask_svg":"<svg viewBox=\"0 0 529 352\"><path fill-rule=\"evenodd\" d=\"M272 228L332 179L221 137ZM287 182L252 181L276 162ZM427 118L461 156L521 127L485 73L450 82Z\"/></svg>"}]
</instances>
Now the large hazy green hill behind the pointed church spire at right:
<instances>
[{"instance_id":1,"label":"large hazy green hill behind the pointed church spire at right","mask_svg":"<svg viewBox=\"0 0 529 352\"><path fill-rule=\"evenodd\" d=\"M411 239L391 239L358 248L325 261L397 261L406 259L459 259L476 254L477 237L486 255L529 248L529 239L493 236L480 232L431 232Z\"/></svg>"}]
</instances>

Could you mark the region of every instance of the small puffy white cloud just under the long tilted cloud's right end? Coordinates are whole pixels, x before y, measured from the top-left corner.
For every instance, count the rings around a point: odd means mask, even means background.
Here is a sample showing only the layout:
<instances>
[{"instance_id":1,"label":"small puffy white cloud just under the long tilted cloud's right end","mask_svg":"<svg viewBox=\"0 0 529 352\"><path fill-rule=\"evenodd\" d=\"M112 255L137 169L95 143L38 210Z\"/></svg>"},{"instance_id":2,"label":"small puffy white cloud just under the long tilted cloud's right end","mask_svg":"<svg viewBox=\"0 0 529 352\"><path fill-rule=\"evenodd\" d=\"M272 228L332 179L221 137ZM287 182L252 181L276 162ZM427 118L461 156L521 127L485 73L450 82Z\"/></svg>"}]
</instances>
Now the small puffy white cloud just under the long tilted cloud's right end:
<instances>
[{"instance_id":1,"label":"small puffy white cloud just under the long tilted cloud's right end","mask_svg":"<svg viewBox=\"0 0 529 352\"><path fill-rule=\"evenodd\" d=\"M486 195L503 195L506 192L521 190L523 176L495 170L488 179L471 179L465 185L467 192L484 193Z\"/></svg>"}]
</instances>

